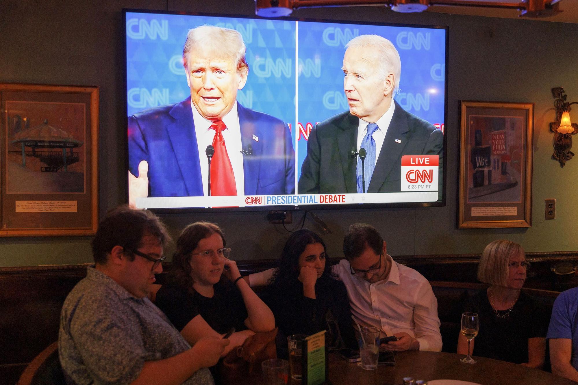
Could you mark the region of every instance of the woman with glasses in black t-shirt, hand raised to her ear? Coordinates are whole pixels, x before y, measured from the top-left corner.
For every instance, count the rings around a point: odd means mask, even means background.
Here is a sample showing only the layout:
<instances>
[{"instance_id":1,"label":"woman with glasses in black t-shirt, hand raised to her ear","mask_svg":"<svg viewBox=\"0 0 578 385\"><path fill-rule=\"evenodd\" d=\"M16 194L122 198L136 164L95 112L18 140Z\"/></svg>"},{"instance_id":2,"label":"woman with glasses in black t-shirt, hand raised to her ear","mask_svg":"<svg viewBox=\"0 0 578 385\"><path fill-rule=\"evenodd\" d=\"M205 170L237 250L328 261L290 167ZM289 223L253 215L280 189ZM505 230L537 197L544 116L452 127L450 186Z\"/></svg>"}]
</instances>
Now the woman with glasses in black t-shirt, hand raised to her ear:
<instances>
[{"instance_id":1,"label":"woman with glasses in black t-shirt, hand raised to her ear","mask_svg":"<svg viewBox=\"0 0 578 385\"><path fill-rule=\"evenodd\" d=\"M235 328L225 354L255 332L275 328L271 310L242 279L228 259L223 231L213 223L188 225L177 239L171 282L158 290L155 303L190 345Z\"/></svg>"}]
</instances>

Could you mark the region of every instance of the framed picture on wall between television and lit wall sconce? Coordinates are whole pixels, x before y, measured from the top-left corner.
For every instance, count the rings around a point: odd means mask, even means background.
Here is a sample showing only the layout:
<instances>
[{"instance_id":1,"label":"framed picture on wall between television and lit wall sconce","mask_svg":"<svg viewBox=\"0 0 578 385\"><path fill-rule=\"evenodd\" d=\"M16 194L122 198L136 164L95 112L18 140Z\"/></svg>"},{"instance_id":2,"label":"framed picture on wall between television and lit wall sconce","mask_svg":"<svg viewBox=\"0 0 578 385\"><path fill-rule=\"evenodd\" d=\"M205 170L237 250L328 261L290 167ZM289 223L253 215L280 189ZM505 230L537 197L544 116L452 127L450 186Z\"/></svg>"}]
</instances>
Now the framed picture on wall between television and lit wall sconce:
<instances>
[{"instance_id":1,"label":"framed picture on wall between television and lit wall sconce","mask_svg":"<svg viewBox=\"0 0 578 385\"><path fill-rule=\"evenodd\" d=\"M458 228L531 227L533 103L460 110Z\"/></svg>"}]
</instances>

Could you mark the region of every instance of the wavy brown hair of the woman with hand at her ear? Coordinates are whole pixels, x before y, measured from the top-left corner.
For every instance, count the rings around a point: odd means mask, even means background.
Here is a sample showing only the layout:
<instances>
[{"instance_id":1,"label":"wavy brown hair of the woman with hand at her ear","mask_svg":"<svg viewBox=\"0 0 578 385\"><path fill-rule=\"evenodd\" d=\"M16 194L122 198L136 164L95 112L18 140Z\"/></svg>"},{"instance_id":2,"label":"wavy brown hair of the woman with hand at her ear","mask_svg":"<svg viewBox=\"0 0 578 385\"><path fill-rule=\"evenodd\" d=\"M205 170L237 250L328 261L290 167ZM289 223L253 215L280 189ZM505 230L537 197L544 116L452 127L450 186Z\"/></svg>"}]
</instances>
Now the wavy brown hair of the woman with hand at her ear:
<instances>
[{"instance_id":1,"label":"wavy brown hair of the woman with hand at her ear","mask_svg":"<svg viewBox=\"0 0 578 385\"><path fill-rule=\"evenodd\" d=\"M223 230L214 223L210 222L195 222L183 229L177 239L177 249L173 254L173 266L175 268L173 280L180 288L193 294L194 288L192 284L194 280L191 276L191 253L195 250L201 242L213 234L218 234L223 239L223 247L225 246L225 237Z\"/></svg>"}]
</instances>

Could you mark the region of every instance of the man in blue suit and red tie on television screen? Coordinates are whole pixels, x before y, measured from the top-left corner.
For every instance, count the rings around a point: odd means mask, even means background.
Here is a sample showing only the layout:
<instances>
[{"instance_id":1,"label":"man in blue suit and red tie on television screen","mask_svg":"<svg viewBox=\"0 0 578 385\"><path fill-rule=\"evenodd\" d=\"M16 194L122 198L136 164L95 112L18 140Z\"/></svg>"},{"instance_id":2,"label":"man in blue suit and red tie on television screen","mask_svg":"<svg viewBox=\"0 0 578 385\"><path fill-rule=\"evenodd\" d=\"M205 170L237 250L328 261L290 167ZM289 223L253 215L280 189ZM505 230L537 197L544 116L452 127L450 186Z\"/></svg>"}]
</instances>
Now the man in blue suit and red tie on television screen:
<instances>
[{"instance_id":1,"label":"man in blue suit and red tie on television screen","mask_svg":"<svg viewBox=\"0 0 578 385\"><path fill-rule=\"evenodd\" d=\"M236 100L249 75L245 53L235 29L203 25L188 32L183 64L190 97L128 118L129 203L295 193L288 126Z\"/></svg>"}]
</instances>

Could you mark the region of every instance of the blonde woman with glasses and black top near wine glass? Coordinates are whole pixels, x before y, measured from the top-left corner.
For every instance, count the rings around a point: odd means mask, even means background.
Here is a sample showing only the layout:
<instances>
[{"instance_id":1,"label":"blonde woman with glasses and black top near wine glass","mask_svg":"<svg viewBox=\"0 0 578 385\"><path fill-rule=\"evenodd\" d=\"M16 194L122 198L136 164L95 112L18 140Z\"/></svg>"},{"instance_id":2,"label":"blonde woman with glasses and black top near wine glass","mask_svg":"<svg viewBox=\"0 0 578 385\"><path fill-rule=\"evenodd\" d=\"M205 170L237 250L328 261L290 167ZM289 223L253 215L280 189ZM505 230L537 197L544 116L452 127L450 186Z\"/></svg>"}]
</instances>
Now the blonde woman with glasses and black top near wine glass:
<instances>
[{"instance_id":1,"label":"blonde woman with glasses and black top near wine glass","mask_svg":"<svg viewBox=\"0 0 578 385\"><path fill-rule=\"evenodd\" d=\"M521 291L529 266L517 243L495 240L484 249L477 279L490 287L464 303L464 312L479 315L479 332L471 342L473 356L542 368L550 312ZM457 353L468 354L468 340L461 334Z\"/></svg>"}]
</instances>

